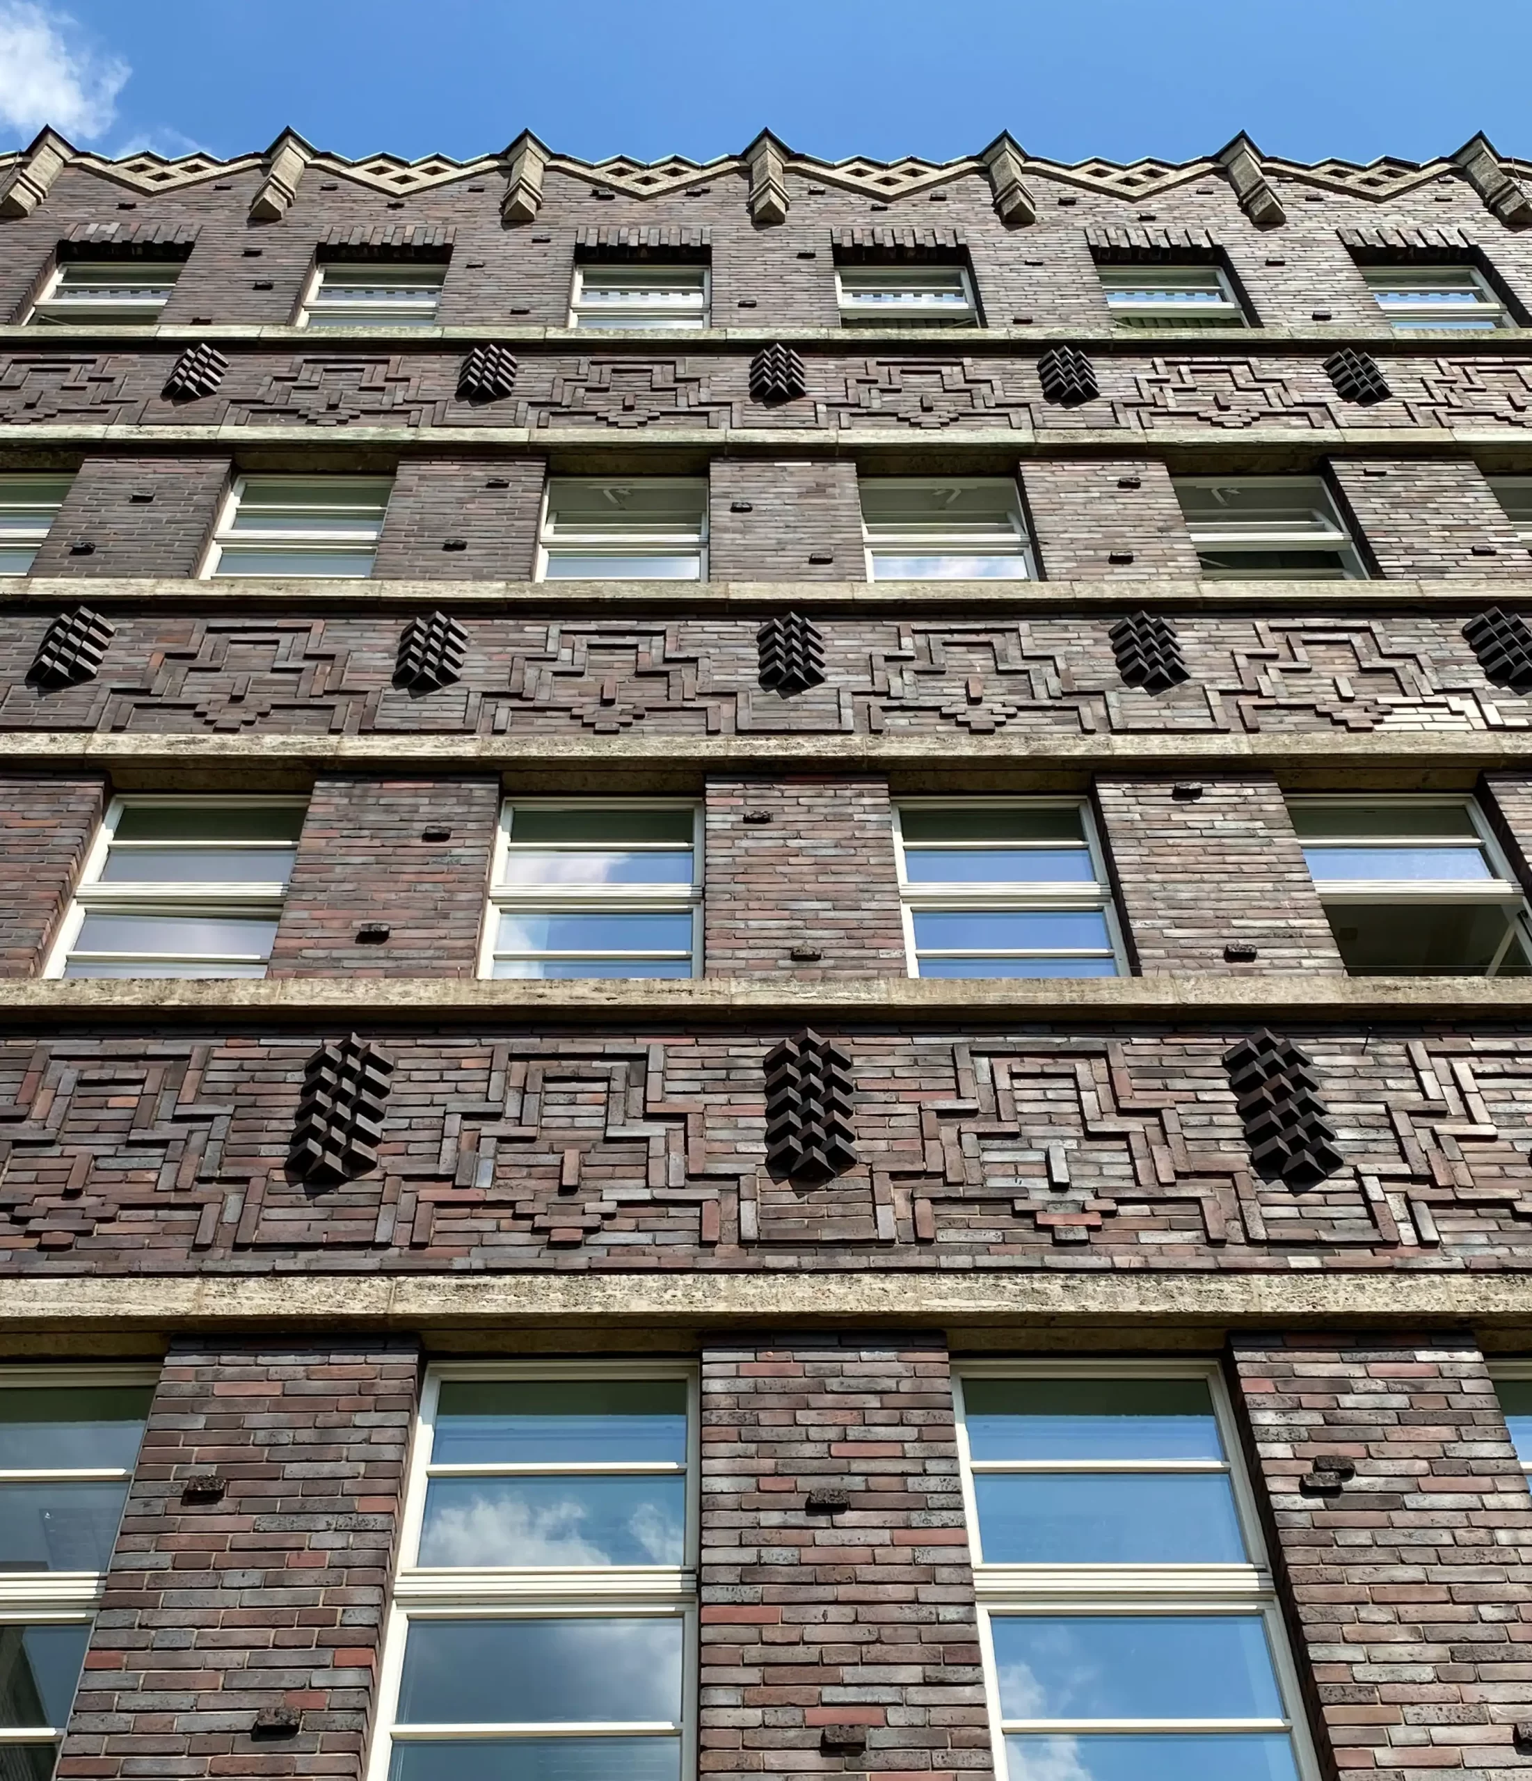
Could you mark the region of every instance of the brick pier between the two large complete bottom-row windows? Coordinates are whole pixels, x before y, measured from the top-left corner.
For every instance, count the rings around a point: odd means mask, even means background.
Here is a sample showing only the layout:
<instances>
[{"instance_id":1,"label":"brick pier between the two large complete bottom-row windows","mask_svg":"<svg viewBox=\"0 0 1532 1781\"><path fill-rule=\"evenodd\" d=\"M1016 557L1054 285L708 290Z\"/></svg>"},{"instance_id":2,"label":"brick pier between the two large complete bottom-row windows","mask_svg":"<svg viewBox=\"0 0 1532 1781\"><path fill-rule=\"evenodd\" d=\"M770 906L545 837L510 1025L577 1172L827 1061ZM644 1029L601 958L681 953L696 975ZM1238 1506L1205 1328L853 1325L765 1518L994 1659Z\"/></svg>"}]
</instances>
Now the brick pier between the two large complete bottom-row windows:
<instances>
[{"instance_id":1,"label":"brick pier between the two large complete bottom-row windows","mask_svg":"<svg viewBox=\"0 0 1532 1781\"><path fill-rule=\"evenodd\" d=\"M704 1776L992 1772L937 1338L704 1350L700 1589Z\"/></svg>"}]
</instances>

